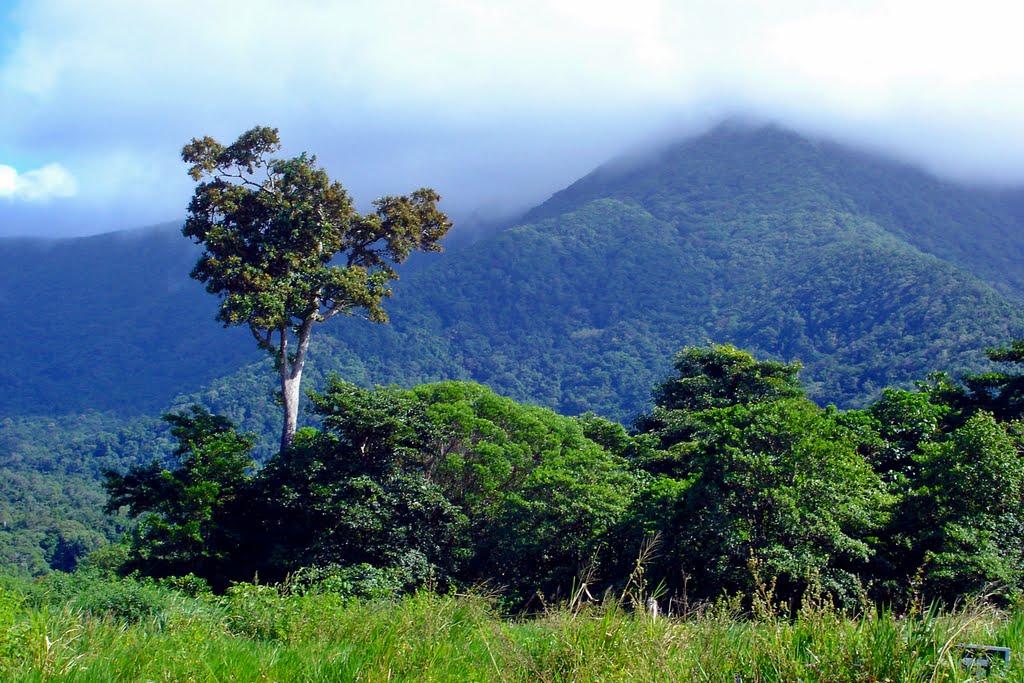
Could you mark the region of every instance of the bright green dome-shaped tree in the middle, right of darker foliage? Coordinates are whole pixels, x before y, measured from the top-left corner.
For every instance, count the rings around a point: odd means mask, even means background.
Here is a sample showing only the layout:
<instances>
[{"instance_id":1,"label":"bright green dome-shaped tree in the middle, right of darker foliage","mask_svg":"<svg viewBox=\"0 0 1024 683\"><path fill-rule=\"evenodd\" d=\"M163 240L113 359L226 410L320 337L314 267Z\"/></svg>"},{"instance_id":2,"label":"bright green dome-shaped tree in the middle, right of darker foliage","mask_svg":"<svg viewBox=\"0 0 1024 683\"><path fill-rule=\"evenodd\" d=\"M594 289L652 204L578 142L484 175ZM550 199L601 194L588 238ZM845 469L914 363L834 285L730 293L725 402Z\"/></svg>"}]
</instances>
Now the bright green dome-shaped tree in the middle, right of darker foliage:
<instances>
[{"instance_id":1,"label":"bright green dome-shaped tree in the middle, right of darker foliage","mask_svg":"<svg viewBox=\"0 0 1024 683\"><path fill-rule=\"evenodd\" d=\"M607 552L636 479L580 423L475 384L416 388L432 424L425 471L470 520L463 580L512 599L567 590Z\"/></svg>"}]
</instances>

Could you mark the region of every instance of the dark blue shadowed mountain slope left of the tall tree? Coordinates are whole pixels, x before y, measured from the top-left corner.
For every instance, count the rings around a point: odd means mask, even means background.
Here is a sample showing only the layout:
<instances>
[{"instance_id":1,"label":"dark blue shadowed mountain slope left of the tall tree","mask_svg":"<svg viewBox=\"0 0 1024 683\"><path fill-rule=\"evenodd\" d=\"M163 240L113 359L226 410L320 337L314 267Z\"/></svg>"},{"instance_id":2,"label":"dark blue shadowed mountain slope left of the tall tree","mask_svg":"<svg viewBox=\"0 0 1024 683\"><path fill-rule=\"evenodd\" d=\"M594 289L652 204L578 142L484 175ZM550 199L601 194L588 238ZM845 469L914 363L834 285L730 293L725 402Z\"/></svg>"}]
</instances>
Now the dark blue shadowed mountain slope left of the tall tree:
<instances>
[{"instance_id":1,"label":"dark blue shadowed mountain slope left of the tall tree","mask_svg":"<svg viewBox=\"0 0 1024 683\"><path fill-rule=\"evenodd\" d=\"M188 278L198 255L174 224L0 240L0 415L154 413L258 359Z\"/></svg>"}]
</instances>

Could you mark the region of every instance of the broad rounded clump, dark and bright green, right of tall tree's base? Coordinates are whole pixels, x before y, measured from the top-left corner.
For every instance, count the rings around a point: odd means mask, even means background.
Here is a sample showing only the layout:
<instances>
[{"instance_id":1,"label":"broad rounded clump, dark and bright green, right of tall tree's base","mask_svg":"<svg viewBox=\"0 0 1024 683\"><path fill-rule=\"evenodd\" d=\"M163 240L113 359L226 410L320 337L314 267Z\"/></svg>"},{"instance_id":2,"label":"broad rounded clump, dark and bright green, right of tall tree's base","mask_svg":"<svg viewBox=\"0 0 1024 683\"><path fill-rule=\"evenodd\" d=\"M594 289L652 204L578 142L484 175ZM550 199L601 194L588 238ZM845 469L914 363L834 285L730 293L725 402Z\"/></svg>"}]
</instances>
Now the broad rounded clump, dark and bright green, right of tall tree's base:
<instances>
[{"instance_id":1,"label":"broad rounded clump, dark and bright green, right of tall tree's base","mask_svg":"<svg viewBox=\"0 0 1024 683\"><path fill-rule=\"evenodd\" d=\"M370 564L406 587L550 594L597 560L636 483L575 421L479 385L335 380L313 403L324 433L303 433L261 474L267 554L282 562L270 575Z\"/></svg>"}]
</instances>

